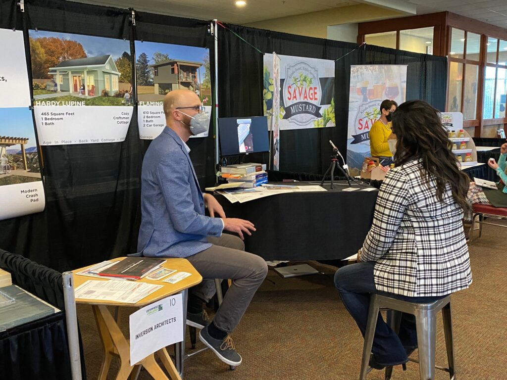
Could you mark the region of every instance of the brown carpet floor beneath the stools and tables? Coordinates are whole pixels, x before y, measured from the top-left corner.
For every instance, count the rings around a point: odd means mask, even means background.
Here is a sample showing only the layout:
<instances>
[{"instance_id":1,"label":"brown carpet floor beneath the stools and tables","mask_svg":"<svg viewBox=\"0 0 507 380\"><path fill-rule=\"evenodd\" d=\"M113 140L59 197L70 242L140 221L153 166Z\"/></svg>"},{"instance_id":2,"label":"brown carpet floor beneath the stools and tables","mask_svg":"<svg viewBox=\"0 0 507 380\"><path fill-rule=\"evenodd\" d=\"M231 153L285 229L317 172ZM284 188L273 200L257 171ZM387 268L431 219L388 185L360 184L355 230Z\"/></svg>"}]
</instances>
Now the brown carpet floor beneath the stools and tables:
<instances>
[{"instance_id":1,"label":"brown carpet floor beneath the stools and tables","mask_svg":"<svg viewBox=\"0 0 507 380\"><path fill-rule=\"evenodd\" d=\"M469 245L473 284L453 295L452 318L456 378L459 380L503 380L507 341L507 276L504 231L485 226L482 238ZM475 232L477 236L477 232ZM291 379L353 380L359 377L363 337L345 310L333 285L336 268L309 262L322 274L283 279L270 270L233 333L243 363L236 370L218 360L209 350L185 362L187 380ZM120 326L127 332L128 315L120 310ZM78 306L89 379L96 379L102 346L90 307ZM447 365L442 319L437 325L438 365ZM187 332L187 347L190 347ZM202 344L198 341L198 348ZM417 351L412 358L417 359ZM504 363L503 365L501 363ZM114 379L113 362L108 379ZM140 380L151 379L141 371ZM383 379L373 370L368 379ZM409 362L407 371L394 368L392 379L418 379L419 366ZM436 380L449 379L438 371Z\"/></svg>"}]
</instances>

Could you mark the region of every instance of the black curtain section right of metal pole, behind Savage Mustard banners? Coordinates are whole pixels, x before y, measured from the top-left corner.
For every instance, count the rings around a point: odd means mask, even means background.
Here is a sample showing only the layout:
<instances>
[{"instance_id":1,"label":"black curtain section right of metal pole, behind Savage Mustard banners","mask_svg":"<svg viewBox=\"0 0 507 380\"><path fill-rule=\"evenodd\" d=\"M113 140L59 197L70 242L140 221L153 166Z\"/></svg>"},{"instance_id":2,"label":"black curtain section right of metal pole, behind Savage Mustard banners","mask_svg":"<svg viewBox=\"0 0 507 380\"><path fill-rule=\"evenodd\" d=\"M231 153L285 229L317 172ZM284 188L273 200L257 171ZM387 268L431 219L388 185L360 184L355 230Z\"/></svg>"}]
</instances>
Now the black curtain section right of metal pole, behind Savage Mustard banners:
<instances>
[{"instance_id":1,"label":"black curtain section right of metal pole, behind Savage Mustard banners","mask_svg":"<svg viewBox=\"0 0 507 380\"><path fill-rule=\"evenodd\" d=\"M263 115L262 53L330 59L335 64L335 128L280 131L280 170L322 174L332 154L329 140L345 156L350 65L406 64L407 100L423 99L445 108L447 59L378 46L315 39L299 35L225 24L219 26L219 117ZM234 32L234 33L233 33ZM357 49L356 49L357 48ZM354 50L355 49L355 50ZM353 50L353 51L352 51ZM347 54L348 53L348 54ZM248 162L268 162L268 155L248 155Z\"/></svg>"}]
</instances>

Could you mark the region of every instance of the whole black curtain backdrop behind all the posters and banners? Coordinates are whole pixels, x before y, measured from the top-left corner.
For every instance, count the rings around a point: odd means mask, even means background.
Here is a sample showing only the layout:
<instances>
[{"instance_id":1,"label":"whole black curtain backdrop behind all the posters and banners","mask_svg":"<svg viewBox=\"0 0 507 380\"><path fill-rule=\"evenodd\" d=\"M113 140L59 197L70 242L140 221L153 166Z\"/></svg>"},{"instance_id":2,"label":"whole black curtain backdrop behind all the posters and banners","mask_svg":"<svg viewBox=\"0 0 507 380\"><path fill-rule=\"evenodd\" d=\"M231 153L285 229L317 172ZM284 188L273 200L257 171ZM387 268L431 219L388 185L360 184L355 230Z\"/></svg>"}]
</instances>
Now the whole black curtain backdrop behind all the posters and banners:
<instances>
[{"instance_id":1,"label":"whole black curtain backdrop behind all the posters and banners","mask_svg":"<svg viewBox=\"0 0 507 380\"><path fill-rule=\"evenodd\" d=\"M214 84L214 40L207 21L136 12L133 26L130 10L63 0L25 0L24 13L18 10L16 0L0 0L0 12L0 26L23 28L26 42L28 29L38 28L130 40L131 53L135 40L207 47ZM356 48L338 41L226 26L263 53L336 60ZM262 116L263 54L230 30L219 26L219 116ZM408 64L407 98L421 98L444 108L446 58L360 47L335 65L337 127L281 131L281 170L322 174L329 166L329 139L345 155L352 64ZM27 65L30 68L29 54ZM46 209L0 221L0 247L60 272L135 252L140 169L149 143L139 140L134 107L124 142L43 146ZM191 139L189 146L202 187L212 184L213 131L210 129L207 138ZM249 155L247 160L267 163L268 155Z\"/></svg>"}]
</instances>

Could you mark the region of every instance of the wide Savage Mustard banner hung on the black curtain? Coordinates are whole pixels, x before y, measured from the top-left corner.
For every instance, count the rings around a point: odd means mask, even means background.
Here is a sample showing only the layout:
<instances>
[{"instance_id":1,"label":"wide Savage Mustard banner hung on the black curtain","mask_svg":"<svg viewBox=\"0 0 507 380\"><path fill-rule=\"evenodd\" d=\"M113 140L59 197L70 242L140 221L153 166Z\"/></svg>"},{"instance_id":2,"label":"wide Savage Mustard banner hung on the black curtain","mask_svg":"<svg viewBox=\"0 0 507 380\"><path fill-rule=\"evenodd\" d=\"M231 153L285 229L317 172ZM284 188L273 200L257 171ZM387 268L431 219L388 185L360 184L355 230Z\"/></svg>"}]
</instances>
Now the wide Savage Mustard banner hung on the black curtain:
<instances>
[{"instance_id":1,"label":"wide Savage Mustard banner hung on the black curtain","mask_svg":"<svg viewBox=\"0 0 507 380\"><path fill-rule=\"evenodd\" d=\"M335 62L280 57L280 130L334 127ZM264 55L264 115L273 115L273 54Z\"/></svg>"}]
</instances>

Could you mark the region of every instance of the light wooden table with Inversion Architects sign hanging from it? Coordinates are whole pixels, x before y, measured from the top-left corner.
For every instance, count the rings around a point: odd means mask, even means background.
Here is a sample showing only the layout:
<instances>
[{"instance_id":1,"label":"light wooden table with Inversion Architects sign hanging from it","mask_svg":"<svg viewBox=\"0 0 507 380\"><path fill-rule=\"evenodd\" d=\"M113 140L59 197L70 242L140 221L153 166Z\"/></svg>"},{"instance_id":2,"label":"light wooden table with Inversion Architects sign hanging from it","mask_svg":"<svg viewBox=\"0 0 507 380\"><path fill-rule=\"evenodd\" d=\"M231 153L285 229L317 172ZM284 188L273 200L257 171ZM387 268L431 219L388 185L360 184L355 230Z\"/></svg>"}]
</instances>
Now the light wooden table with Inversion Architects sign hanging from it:
<instances>
[{"instance_id":1,"label":"light wooden table with Inversion Architects sign hanging from it","mask_svg":"<svg viewBox=\"0 0 507 380\"><path fill-rule=\"evenodd\" d=\"M118 257L112 259L111 261L123 260L124 257ZM104 359L102 360L102 365L100 367L99 372L99 380L105 380L107 377L107 372L109 371L111 360L113 356L118 356L120 358L120 370L116 376L117 380L127 379L132 371L135 369L137 373L140 371L141 365L153 376L155 379L163 379L168 380L166 374L163 372L162 368L155 361L155 355L149 355L138 363L134 363L133 365L130 363L130 344L128 339L123 335L120 327L118 326L117 321L113 318L111 312L107 309L107 306L113 307L133 307L133 308L142 308L144 306L150 305L153 302L156 302L165 297L171 296L176 293L183 293L183 307L184 314L186 309L186 293L187 289L199 284L202 281L201 275L194 269L192 264L184 258L168 258L166 262L162 264L164 268L175 269L178 272L187 272L191 273L192 276L189 276L176 284L169 284L162 281L148 280L148 279L140 279L136 282L144 282L149 284L162 285L162 288L153 292L152 294L144 297L140 301L136 303L123 303L123 302L115 302L115 301L102 301L96 299L82 299L76 298L76 303L82 303L84 305L90 305L93 309L93 314L95 316L95 322L97 323L97 329L102 340L102 344L104 346ZM92 267L92 265L89 265ZM81 284L85 283L88 280L98 280L98 281L110 281L108 279L100 279L89 276L80 276L76 275L76 273L83 271L86 268L81 268L73 271L74 273L74 288L77 288ZM127 280L128 281L128 280ZM184 320L186 320L186 316L183 316ZM184 329L186 324L184 323ZM184 334L185 337L185 334ZM185 339L185 338L184 338ZM185 345L178 344L176 345L176 360L183 361ZM165 369L169 373L169 376L172 380L180 380L180 374L176 370L167 350L163 348L162 350L157 351L158 356L160 357L162 364ZM183 368L180 364L179 368Z\"/></svg>"}]
</instances>

